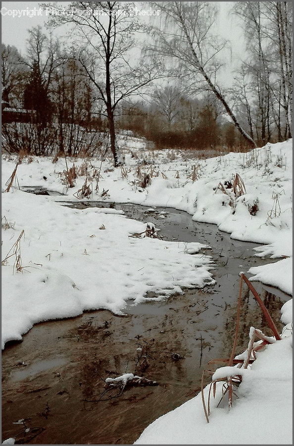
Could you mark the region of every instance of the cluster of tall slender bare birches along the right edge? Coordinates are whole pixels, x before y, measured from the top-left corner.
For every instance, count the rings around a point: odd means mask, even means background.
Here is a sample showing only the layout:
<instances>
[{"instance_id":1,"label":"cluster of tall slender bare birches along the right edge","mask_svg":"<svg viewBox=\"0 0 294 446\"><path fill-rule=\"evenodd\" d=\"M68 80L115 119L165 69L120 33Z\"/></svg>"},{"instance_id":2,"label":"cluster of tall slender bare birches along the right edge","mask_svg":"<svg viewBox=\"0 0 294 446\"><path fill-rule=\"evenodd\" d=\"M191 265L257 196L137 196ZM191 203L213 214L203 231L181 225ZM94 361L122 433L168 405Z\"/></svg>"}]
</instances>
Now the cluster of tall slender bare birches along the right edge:
<instances>
[{"instance_id":1,"label":"cluster of tall slender bare birches along the right edge","mask_svg":"<svg viewBox=\"0 0 294 446\"><path fill-rule=\"evenodd\" d=\"M248 57L241 76L246 100L250 97L251 128L254 123L256 137L262 142L271 139L273 130L280 141L291 137L291 8L289 1L243 1L234 7L244 23L247 42ZM246 108L248 111L247 104Z\"/></svg>"}]
</instances>

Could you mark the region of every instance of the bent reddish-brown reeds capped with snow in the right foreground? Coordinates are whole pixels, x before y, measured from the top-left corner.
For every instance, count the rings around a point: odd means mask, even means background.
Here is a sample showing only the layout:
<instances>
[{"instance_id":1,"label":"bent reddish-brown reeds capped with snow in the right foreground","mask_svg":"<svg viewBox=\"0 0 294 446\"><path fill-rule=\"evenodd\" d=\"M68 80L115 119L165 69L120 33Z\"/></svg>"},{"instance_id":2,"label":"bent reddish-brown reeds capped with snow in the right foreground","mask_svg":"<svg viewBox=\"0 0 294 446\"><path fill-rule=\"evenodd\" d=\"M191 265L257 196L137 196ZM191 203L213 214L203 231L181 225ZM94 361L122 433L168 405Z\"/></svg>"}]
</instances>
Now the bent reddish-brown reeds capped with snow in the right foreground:
<instances>
[{"instance_id":1,"label":"bent reddish-brown reeds capped with snow in the right foreground","mask_svg":"<svg viewBox=\"0 0 294 446\"><path fill-rule=\"evenodd\" d=\"M264 318L268 324L268 327L272 331L275 339L272 337L264 335L260 330L255 329L254 327L251 327L249 332L249 342L247 349L245 352L243 352L241 355L238 355L238 358L235 358L236 354L236 346L237 346L237 340L239 335L239 328L240 328L240 313L241 313L241 301L242 301L242 285L243 281L245 281L246 285L248 286L249 290L253 294L256 302L260 306ZM261 340L261 342L256 343L254 345L255 338L258 338ZM208 364L217 364L217 363L225 363L228 364L229 367L232 367L231 372L226 370L226 376L220 377L218 379L213 380L210 383L209 386L209 392L208 392L208 401L207 406L205 403L204 398L204 375L205 373L208 373L210 375L214 375L214 372L211 372L210 370L203 370L202 372L202 379L201 379L201 398L202 398L202 405L204 410L204 415L206 418L207 423L209 423L209 415L210 415L210 395L211 395L211 388L213 388L213 397L215 398L216 394L216 386L217 382L222 382L222 397L217 405L217 407L220 405L221 401L224 399L224 396L228 393L228 407L229 409L233 407L233 395L235 395L238 398L237 393L233 390L233 386L235 388L238 388L238 386L242 383L242 373L238 373L238 369L247 369L249 364L252 364L253 361L256 359L256 352L264 349L264 347L267 344L274 343L278 340L281 340L281 336L279 335L279 332L268 312L266 309L264 303L262 302L259 294L257 293L256 289L253 287L252 283L246 278L244 274L240 275L240 286L239 286L239 296L238 296L238 306L237 306L237 315L236 315L236 328L235 328L235 337L232 347L232 352L230 358L217 358L213 359L208 362ZM234 367L236 366L236 367Z\"/></svg>"}]
</instances>

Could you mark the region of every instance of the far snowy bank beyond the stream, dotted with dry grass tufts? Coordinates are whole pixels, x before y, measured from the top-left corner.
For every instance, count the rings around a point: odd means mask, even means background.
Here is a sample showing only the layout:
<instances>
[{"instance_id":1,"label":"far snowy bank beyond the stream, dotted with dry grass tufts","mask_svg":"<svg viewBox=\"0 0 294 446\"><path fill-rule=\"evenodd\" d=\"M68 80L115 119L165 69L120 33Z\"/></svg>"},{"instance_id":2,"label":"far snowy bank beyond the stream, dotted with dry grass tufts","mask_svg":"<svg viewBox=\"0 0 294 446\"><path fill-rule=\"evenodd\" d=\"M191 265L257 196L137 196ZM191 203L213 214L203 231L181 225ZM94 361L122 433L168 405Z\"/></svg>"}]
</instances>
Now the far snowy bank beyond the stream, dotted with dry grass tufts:
<instances>
[{"instance_id":1,"label":"far snowy bank beyond the stream, dotted with dry grass tufts","mask_svg":"<svg viewBox=\"0 0 294 446\"><path fill-rule=\"evenodd\" d=\"M111 161L101 164L91 159L86 163L88 184L93 190L89 200L174 207L190 213L195 221L217 224L232 238L266 244L258 248L258 256L292 257L292 139L245 154L230 153L207 160L185 158L183 151L148 151L141 140L136 143L134 138L124 140L124 144L125 170L114 169ZM138 157L132 158L131 151ZM62 174L66 169L64 158L55 164L51 158L32 160L30 164L24 160L17 168L20 186L42 186L66 194L58 201L79 201L76 194L86 179L83 160L67 160L68 168L75 163L80 169L71 188L66 187ZM15 161L13 156L4 157L4 181ZM145 173L151 183L143 188L140 182ZM238 184L234 191L236 173L244 191ZM270 280L272 275L266 268L257 267L251 272L255 279L292 294L291 262L277 260L271 268L279 274Z\"/></svg>"}]
</instances>

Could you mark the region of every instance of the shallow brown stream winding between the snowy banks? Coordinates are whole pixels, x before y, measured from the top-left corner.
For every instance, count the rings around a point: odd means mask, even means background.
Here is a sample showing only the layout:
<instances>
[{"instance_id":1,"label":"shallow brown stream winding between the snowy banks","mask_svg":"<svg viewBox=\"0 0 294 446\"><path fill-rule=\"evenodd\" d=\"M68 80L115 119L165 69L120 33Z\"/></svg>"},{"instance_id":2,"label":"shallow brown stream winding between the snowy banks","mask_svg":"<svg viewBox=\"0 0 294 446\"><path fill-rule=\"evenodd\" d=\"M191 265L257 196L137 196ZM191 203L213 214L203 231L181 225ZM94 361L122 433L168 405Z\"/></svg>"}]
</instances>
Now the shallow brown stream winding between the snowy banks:
<instances>
[{"instance_id":1,"label":"shallow brown stream winding between the snowy banks","mask_svg":"<svg viewBox=\"0 0 294 446\"><path fill-rule=\"evenodd\" d=\"M106 203L75 203L85 206ZM35 325L22 342L2 354L2 439L29 444L132 444L160 415L200 390L203 369L228 357L233 344L240 271L270 260L253 257L255 243L230 239L216 225L193 222L174 209L115 204L127 217L151 221L165 240L212 246L214 286L188 289L166 301L137 306L126 316L109 311ZM160 212L166 212L164 216ZM205 252L205 250L203 250ZM290 296L255 282L278 329L280 308ZM150 297L150 296L149 296ZM250 326L269 334L261 311L244 286L240 338L244 350ZM130 372L158 386L132 387L119 397L102 394L103 380ZM89 400L98 400L90 402ZM203 415L204 416L204 415ZM13 424L24 420L21 424ZM25 430L29 431L25 432Z\"/></svg>"}]
</instances>

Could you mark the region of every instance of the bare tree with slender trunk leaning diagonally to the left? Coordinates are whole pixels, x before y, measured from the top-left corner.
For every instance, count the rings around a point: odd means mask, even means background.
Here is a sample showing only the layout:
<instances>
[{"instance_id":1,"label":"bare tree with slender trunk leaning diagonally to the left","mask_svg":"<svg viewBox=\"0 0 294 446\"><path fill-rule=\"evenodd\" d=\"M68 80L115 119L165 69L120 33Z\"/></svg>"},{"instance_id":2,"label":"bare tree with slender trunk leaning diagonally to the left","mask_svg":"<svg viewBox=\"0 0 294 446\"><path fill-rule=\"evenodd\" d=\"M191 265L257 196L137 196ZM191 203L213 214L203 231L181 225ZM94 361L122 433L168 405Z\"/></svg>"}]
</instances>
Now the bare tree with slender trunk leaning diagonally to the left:
<instances>
[{"instance_id":1,"label":"bare tree with slender trunk leaning diagonally to the left","mask_svg":"<svg viewBox=\"0 0 294 446\"><path fill-rule=\"evenodd\" d=\"M156 45L153 53L159 53L179 62L186 77L204 82L205 88L217 97L235 126L250 145L256 147L252 137L240 125L224 94L216 82L220 62L217 56L225 47L221 39L212 34L215 7L209 2L161 2L156 7L166 15L164 29L156 28Z\"/></svg>"}]
</instances>

